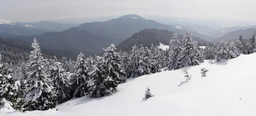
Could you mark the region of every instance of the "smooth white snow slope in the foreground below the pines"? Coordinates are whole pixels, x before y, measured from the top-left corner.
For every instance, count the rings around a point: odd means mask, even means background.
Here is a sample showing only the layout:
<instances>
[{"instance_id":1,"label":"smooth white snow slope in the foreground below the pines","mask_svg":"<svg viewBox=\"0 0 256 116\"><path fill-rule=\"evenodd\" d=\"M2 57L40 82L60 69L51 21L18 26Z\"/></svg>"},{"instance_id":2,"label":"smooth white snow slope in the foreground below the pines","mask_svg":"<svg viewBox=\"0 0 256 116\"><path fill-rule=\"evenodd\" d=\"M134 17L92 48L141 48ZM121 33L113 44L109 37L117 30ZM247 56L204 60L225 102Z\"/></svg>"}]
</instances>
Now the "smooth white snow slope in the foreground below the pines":
<instances>
[{"instance_id":1,"label":"smooth white snow slope in the foreground below the pines","mask_svg":"<svg viewBox=\"0 0 256 116\"><path fill-rule=\"evenodd\" d=\"M192 79L180 87L183 69L128 79L111 96L74 98L57 106L58 111L2 108L0 116L254 116L255 58L256 53L186 67ZM201 78L204 67L209 71ZM155 96L142 101L148 86Z\"/></svg>"}]
</instances>

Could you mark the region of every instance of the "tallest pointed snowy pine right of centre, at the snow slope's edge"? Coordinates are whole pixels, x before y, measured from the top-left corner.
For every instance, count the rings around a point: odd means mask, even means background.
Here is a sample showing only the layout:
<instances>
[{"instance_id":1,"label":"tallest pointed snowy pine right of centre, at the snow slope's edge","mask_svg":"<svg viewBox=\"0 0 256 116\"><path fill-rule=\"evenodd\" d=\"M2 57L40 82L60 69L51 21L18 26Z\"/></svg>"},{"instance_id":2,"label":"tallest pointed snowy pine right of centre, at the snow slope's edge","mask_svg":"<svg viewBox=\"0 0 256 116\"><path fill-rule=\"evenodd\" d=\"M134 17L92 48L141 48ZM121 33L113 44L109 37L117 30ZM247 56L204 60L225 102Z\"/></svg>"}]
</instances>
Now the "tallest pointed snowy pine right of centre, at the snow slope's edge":
<instances>
[{"instance_id":1,"label":"tallest pointed snowy pine right of centre, at the snow slope's edge","mask_svg":"<svg viewBox=\"0 0 256 116\"><path fill-rule=\"evenodd\" d=\"M198 43L193 41L189 28L186 29L186 35L183 39L182 51L178 58L179 68L199 65L198 61Z\"/></svg>"}]
</instances>

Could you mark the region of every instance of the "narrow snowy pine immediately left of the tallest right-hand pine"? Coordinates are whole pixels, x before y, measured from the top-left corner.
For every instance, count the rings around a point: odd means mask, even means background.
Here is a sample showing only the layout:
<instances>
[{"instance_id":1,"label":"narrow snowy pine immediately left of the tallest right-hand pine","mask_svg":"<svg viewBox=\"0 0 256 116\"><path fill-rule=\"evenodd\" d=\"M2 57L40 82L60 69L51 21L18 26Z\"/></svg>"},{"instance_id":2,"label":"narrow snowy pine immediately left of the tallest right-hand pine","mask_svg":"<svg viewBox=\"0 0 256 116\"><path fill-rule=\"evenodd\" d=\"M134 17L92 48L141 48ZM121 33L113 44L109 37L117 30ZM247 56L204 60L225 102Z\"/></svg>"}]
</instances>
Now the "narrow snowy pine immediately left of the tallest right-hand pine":
<instances>
[{"instance_id":1,"label":"narrow snowy pine immediately left of the tallest right-hand pine","mask_svg":"<svg viewBox=\"0 0 256 116\"><path fill-rule=\"evenodd\" d=\"M168 70L177 70L179 69L179 64L177 59L179 57L180 52L182 51L180 47L180 41L178 39L177 32L173 33L172 40L169 42L169 65L167 66Z\"/></svg>"}]
</instances>

